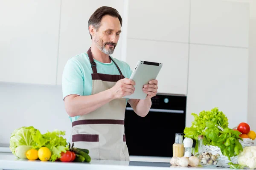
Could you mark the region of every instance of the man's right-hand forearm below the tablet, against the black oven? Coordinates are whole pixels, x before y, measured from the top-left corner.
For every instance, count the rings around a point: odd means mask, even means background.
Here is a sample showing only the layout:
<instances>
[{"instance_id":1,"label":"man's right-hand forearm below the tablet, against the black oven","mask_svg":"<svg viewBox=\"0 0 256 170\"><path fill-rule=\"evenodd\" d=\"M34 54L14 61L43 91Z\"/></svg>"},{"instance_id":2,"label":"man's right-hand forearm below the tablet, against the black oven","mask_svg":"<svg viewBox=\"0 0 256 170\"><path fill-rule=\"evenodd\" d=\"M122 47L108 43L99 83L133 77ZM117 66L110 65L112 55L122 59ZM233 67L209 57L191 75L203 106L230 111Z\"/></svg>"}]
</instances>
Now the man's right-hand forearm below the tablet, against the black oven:
<instances>
[{"instance_id":1,"label":"man's right-hand forearm below the tablet, against the black oven","mask_svg":"<svg viewBox=\"0 0 256 170\"><path fill-rule=\"evenodd\" d=\"M130 99L131 100L131 99ZM132 99L134 101L134 112L141 117L145 117L148 114L149 109L151 108L151 99Z\"/></svg>"}]
</instances>

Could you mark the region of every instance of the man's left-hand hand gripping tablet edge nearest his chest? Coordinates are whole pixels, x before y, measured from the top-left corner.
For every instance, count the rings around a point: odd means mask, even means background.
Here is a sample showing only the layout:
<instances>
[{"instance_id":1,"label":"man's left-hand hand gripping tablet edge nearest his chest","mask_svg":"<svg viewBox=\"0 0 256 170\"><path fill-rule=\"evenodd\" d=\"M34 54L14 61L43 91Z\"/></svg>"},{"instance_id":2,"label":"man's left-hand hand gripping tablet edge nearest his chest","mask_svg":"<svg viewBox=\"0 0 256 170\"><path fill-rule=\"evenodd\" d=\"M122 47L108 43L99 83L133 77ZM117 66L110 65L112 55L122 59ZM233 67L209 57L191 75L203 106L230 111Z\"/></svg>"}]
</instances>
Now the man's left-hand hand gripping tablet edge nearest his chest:
<instances>
[{"instance_id":1,"label":"man's left-hand hand gripping tablet edge nearest his chest","mask_svg":"<svg viewBox=\"0 0 256 170\"><path fill-rule=\"evenodd\" d=\"M135 91L134 85L135 82L130 79L120 79L116 82L116 85L110 89L110 91L114 99L120 99L123 96L133 94Z\"/></svg>"}]
</instances>

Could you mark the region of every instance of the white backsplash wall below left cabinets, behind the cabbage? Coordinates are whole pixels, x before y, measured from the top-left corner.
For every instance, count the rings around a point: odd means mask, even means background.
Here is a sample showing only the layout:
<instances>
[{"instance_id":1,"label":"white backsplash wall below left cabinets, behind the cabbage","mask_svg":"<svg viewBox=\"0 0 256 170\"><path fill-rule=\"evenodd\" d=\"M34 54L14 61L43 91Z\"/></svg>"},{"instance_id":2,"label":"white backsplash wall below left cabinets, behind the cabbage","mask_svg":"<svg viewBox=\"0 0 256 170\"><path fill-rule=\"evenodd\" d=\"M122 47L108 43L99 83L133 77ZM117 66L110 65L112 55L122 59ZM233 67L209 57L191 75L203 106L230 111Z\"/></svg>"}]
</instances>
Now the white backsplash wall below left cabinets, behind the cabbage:
<instances>
[{"instance_id":1,"label":"white backsplash wall below left cabinets, behind the cabbage","mask_svg":"<svg viewBox=\"0 0 256 170\"><path fill-rule=\"evenodd\" d=\"M9 143L10 134L22 126L34 126L41 133L65 130L71 122L64 109L61 86L0 83L0 143Z\"/></svg>"}]
</instances>

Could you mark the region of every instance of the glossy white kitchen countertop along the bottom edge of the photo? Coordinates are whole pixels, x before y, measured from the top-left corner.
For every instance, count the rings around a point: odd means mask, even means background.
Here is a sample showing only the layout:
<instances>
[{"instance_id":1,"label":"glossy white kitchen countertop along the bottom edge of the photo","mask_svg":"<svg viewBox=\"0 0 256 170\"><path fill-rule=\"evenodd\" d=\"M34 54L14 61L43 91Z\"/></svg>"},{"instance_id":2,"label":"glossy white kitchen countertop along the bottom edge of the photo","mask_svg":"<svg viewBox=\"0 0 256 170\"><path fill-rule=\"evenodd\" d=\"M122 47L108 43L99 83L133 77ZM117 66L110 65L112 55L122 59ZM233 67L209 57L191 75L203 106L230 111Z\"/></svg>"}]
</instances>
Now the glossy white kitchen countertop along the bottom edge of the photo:
<instances>
[{"instance_id":1,"label":"glossy white kitchen countertop along the bottom edge of the photo","mask_svg":"<svg viewBox=\"0 0 256 170\"><path fill-rule=\"evenodd\" d=\"M17 159L12 153L0 153L0 170L168 170L174 169L228 169L229 168L209 168L209 167L178 167L171 166L169 162L150 162L150 161L110 161L110 160L91 160L90 163L78 162L44 162Z\"/></svg>"}]
</instances>

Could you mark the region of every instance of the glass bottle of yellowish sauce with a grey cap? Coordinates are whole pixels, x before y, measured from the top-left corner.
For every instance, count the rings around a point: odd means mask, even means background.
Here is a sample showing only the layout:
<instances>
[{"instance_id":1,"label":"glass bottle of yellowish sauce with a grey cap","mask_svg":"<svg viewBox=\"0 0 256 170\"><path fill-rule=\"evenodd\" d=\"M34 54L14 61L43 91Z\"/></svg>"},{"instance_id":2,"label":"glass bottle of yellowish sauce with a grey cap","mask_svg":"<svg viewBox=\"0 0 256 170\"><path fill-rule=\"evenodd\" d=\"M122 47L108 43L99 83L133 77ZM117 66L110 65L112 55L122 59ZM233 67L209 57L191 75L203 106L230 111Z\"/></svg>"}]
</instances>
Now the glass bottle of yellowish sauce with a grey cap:
<instances>
[{"instance_id":1,"label":"glass bottle of yellowish sauce with a grey cap","mask_svg":"<svg viewBox=\"0 0 256 170\"><path fill-rule=\"evenodd\" d=\"M175 143L172 145L172 156L184 156L183 134L175 133Z\"/></svg>"}]
</instances>

